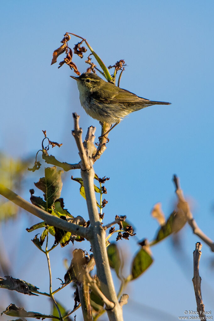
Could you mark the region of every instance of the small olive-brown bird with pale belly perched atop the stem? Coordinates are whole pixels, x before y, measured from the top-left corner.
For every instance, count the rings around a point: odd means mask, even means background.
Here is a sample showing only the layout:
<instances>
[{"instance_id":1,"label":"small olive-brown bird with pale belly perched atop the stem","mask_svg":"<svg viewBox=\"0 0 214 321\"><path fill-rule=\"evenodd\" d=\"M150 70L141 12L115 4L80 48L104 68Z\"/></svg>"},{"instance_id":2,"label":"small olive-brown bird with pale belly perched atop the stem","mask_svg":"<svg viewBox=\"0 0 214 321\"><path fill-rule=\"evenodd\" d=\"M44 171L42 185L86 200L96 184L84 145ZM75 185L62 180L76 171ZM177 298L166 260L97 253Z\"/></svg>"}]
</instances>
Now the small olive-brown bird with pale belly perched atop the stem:
<instances>
[{"instance_id":1,"label":"small olive-brown bird with pale belly perched atop the stem","mask_svg":"<svg viewBox=\"0 0 214 321\"><path fill-rule=\"evenodd\" d=\"M83 73L79 77L70 77L77 81L80 103L86 113L101 123L106 122L111 125L115 123L113 127L133 111L152 105L171 104L139 97L111 82L104 81L94 73Z\"/></svg>"}]
</instances>

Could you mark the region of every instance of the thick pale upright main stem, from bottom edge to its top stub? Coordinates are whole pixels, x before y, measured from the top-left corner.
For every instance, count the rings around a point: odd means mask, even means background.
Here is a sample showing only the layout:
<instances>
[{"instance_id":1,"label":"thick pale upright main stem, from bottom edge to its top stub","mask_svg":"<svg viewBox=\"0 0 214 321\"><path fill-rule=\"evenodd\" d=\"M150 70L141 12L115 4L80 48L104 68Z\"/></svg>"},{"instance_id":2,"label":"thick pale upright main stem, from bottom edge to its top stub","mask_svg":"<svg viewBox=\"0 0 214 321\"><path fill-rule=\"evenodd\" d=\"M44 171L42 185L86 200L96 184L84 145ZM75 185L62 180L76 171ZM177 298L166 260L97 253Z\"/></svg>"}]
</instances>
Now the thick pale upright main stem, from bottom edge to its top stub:
<instances>
[{"instance_id":1,"label":"thick pale upright main stem, from bottom edge to its top stub","mask_svg":"<svg viewBox=\"0 0 214 321\"><path fill-rule=\"evenodd\" d=\"M107 310L108 317L111 321L123 321L122 308L117 299L114 289L114 283L111 276L110 265L105 244L105 230L101 226L100 217L97 209L97 202L94 192L94 169L89 164L89 152L84 149L81 141L82 130L79 128L79 116L74 113L74 126L72 132L79 155L81 158L81 177L85 188L85 198L90 220L90 227L87 229L88 239L90 239L94 260L96 262L97 275L100 281L103 295L114 304L114 307ZM106 139L106 138L105 138Z\"/></svg>"}]
</instances>

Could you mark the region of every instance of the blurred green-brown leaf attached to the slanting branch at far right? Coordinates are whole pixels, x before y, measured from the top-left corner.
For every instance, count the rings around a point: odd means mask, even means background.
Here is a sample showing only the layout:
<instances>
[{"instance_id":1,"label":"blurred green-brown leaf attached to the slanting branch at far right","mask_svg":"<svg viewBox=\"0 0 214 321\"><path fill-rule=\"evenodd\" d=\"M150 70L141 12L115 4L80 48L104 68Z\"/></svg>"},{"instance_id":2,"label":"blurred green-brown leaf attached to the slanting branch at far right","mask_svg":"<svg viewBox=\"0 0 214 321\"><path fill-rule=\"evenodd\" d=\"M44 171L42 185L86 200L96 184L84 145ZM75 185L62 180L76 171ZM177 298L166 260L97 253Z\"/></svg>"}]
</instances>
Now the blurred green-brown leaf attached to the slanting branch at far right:
<instances>
[{"instance_id":1,"label":"blurred green-brown leaf attached to the slanting branch at far right","mask_svg":"<svg viewBox=\"0 0 214 321\"><path fill-rule=\"evenodd\" d=\"M150 243L150 246L162 241L170 234L174 232L175 233L178 232L183 228L185 224L186 224L186 217L182 213L173 211L173 213L170 214L165 224L162 225L157 231L156 237Z\"/></svg>"}]
</instances>

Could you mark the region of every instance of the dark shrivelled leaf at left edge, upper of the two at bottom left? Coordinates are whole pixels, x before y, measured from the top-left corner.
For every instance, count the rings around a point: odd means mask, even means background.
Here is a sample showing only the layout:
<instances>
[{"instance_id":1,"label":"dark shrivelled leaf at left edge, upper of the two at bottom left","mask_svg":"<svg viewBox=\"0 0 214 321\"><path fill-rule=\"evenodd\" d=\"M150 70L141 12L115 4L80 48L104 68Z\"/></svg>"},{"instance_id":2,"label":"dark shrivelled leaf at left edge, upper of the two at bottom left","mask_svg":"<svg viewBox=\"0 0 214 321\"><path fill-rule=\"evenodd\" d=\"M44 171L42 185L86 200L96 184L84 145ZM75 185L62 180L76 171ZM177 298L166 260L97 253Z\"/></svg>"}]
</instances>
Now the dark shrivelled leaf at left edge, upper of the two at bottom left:
<instances>
[{"instance_id":1,"label":"dark shrivelled leaf at left edge, upper of the two at bottom left","mask_svg":"<svg viewBox=\"0 0 214 321\"><path fill-rule=\"evenodd\" d=\"M20 279L14 279L11 275L6 275L6 279L0 278L0 288L17 291L20 293L28 295L37 295L31 291L36 291L39 289L31 283L27 283Z\"/></svg>"}]
</instances>

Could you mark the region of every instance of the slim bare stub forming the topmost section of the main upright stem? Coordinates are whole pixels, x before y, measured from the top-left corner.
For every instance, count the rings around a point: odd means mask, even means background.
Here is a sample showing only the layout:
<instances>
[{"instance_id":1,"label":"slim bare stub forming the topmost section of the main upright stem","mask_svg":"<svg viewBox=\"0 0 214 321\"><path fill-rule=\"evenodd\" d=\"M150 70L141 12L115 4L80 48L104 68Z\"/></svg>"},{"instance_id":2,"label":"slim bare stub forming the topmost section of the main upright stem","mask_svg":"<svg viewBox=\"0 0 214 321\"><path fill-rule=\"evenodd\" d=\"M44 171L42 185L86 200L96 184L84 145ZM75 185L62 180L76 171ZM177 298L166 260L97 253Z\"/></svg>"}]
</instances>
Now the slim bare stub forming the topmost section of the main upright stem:
<instances>
[{"instance_id":1,"label":"slim bare stub forming the topmost section of the main upright stem","mask_svg":"<svg viewBox=\"0 0 214 321\"><path fill-rule=\"evenodd\" d=\"M81 158L81 169L89 170L91 168L89 164L88 156L86 155L85 148L82 143L82 128L79 127L79 115L77 113L73 113L74 118L74 130L72 130L72 135L75 138L77 148L79 150L79 156Z\"/></svg>"}]
</instances>

